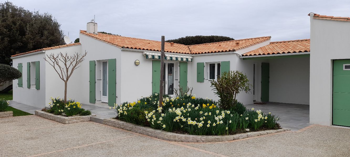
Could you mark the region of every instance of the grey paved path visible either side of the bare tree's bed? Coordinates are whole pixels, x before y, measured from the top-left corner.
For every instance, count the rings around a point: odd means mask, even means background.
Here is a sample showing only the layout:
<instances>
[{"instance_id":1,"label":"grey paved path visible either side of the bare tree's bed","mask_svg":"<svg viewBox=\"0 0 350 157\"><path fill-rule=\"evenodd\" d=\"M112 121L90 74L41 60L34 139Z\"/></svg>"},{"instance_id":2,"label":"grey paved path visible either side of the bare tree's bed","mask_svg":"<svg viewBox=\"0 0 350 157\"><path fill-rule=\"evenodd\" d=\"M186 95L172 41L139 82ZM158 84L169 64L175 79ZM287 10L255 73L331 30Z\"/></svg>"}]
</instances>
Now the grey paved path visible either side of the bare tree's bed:
<instances>
[{"instance_id":1,"label":"grey paved path visible either side of the bare tree's bed","mask_svg":"<svg viewBox=\"0 0 350 157\"><path fill-rule=\"evenodd\" d=\"M21 104L18 102L14 102L10 100L10 106L12 106L15 109L19 109L31 114L34 114L35 110L41 110L40 108L29 106L26 104ZM83 108L85 110L90 110L92 114L96 114L96 118L111 118L116 117L116 112L113 109L109 109L109 106L107 105L100 105L100 106L92 106L92 105L86 105L82 104Z\"/></svg>"}]
</instances>

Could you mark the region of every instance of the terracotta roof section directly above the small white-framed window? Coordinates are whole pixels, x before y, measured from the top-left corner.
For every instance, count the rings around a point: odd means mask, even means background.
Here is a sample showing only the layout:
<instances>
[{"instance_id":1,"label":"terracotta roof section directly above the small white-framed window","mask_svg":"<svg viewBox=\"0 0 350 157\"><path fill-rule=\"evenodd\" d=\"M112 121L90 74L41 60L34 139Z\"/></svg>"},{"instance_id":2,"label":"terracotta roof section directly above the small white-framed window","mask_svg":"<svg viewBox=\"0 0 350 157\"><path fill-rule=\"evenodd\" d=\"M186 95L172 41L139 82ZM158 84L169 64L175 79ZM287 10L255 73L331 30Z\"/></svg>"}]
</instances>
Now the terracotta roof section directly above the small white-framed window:
<instances>
[{"instance_id":1,"label":"terracotta roof section directly above the small white-framed window","mask_svg":"<svg viewBox=\"0 0 350 157\"><path fill-rule=\"evenodd\" d=\"M271 39L271 37L258 37L258 38L230 40L230 41L217 42L217 43L189 45L188 47L191 51L191 54L230 52L230 51L237 51L242 48L264 42L269 39Z\"/></svg>"}]
</instances>

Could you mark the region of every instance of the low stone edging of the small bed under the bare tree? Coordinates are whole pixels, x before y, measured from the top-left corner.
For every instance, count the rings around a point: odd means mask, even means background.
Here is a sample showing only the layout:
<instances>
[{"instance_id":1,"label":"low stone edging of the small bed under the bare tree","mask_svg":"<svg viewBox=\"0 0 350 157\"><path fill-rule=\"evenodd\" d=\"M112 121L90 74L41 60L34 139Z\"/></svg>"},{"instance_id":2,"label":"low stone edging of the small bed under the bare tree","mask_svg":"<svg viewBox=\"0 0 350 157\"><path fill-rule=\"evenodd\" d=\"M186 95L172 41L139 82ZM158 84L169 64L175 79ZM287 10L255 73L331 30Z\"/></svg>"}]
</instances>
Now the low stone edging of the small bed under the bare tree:
<instances>
[{"instance_id":1,"label":"low stone edging of the small bed under the bare tree","mask_svg":"<svg viewBox=\"0 0 350 157\"><path fill-rule=\"evenodd\" d=\"M55 114L48 113L45 111L40 111L40 110L36 110L35 115L46 119L54 120L63 124L90 121L92 116L96 116L96 114L91 114L91 115L84 115L84 116L65 117L63 115L55 115Z\"/></svg>"}]
</instances>

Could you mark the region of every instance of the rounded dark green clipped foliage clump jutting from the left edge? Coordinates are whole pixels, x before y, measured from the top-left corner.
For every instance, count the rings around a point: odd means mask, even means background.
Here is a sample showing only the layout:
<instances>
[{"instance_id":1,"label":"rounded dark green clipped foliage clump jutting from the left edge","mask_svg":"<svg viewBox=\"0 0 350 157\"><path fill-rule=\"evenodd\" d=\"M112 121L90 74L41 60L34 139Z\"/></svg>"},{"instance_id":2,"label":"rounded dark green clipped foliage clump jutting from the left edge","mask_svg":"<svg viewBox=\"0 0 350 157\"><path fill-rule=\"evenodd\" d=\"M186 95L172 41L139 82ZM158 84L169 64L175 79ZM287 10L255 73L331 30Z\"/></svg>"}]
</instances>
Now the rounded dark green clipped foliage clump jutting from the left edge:
<instances>
[{"instance_id":1,"label":"rounded dark green clipped foliage clump jutting from the left edge","mask_svg":"<svg viewBox=\"0 0 350 157\"><path fill-rule=\"evenodd\" d=\"M0 64L0 86L3 86L6 81L12 81L22 77L22 73L9 65Z\"/></svg>"}]
</instances>

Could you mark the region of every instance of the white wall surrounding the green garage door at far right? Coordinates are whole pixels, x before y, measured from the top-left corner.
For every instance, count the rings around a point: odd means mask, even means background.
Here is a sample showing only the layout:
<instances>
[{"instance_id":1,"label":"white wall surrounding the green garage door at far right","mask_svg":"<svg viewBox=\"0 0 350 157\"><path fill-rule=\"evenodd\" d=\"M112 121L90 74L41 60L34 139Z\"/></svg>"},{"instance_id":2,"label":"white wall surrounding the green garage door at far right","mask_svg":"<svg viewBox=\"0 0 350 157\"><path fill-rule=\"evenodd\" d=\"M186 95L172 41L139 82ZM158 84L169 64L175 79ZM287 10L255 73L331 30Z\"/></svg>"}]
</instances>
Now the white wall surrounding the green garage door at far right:
<instances>
[{"instance_id":1,"label":"white wall surrounding the green garage door at far right","mask_svg":"<svg viewBox=\"0 0 350 157\"><path fill-rule=\"evenodd\" d=\"M332 125L332 60L350 59L350 22L310 14L310 123Z\"/></svg>"}]
</instances>

